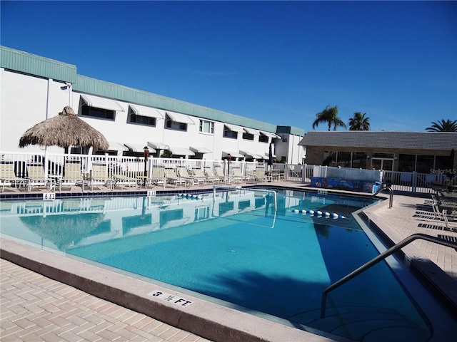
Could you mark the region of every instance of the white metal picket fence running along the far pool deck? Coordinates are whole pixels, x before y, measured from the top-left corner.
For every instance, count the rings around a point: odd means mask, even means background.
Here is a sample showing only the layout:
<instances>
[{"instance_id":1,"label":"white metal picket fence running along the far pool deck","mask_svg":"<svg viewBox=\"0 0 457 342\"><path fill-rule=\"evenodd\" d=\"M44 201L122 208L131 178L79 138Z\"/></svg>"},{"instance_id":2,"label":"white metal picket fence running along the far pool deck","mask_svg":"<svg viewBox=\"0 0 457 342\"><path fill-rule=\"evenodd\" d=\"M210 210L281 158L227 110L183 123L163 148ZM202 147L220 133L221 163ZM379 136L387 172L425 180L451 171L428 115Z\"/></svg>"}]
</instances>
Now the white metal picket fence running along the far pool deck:
<instances>
[{"instance_id":1,"label":"white metal picket fence running along the far pool deck","mask_svg":"<svg viewBox=\"0 0 457 342\"><path fill-rule=\"evenodd\" d=\"M14 172L17 177L27 177L27 165L40 164L44 166L46 175L62 177L64 175L64 165L68 160L81 162L81 173L86 179L90 178L92 165L106 165L109 176L125 175L127 177L136 177L139 175L151 175L154 166L164 167L186 167L188 170L204 169L204 167L221 166L224 172L230 168L238 167L242 175L247 175L256 170L256 167L263 166L266 170L275 169L282 176L284 181L293 182L311 182L315 170L321 170L316 165L291 165L283 163L274 163L266 165L266 162L237 162L231 161L230 165L227 160L200 160L200 159L176 159L176 158L156 158L150 157L145 162L144 157L126 157L113 155L65 155L59 153L36 153L36 152L0 152L0 160L8 160L14 164ZM358 169L353 169L358 170ZM232 172L230 172L232 173ZM392 185L393 190L405 192L433 192L433 183L448 182L450 185L457 185L457 176L448 179L446 175L424 174L418 172L396 172L383 171L383 182Z\"/></svg>"}]
</instances>

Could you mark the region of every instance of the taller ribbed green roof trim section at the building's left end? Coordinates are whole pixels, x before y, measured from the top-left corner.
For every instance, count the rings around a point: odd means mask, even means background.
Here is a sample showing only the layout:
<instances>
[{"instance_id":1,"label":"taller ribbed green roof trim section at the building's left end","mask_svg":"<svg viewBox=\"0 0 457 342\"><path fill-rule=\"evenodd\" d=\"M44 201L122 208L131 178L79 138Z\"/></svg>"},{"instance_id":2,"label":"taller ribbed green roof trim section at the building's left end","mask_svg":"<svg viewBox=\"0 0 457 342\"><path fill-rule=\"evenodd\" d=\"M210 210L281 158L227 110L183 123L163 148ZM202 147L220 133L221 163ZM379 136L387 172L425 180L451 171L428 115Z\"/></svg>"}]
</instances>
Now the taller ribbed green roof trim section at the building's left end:
<instances>
[{"instance_id":1,"label":"taller ribbed green roof trim section at the building's left end","mask_svg":"<svg viewBox=\"0 0 457 342\"><path fill-rule=\"evenodd\" d=\"M21 73L74 83L76 66L0 46L0 66Z\"/></svg>"}]
</instances>

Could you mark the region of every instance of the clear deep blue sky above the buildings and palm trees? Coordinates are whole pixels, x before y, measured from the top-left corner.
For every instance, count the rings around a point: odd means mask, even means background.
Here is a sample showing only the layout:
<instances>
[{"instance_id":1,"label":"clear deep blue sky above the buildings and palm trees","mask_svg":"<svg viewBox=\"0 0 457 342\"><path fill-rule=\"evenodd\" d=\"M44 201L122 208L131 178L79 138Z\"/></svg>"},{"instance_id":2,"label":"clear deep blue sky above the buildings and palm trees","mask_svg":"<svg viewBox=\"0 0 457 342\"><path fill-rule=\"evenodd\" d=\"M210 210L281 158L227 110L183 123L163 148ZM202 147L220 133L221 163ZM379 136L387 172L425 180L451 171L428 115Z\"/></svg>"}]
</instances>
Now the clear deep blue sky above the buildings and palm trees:
<instances>
[{"instance_id":1,"label":"clear deep blue sky above the buildings and palm trees","mask_svg":"<svg viewBox=\"0 0 457 342\"><path fill-rule=\"evenodd\" d=\"M456 1L1 1L1 45L80 75L312 130L457 120ZM319 125L317 130L326 130ZM341 128L338 128L341 130Z\"/></svg>"}]
</instances>

